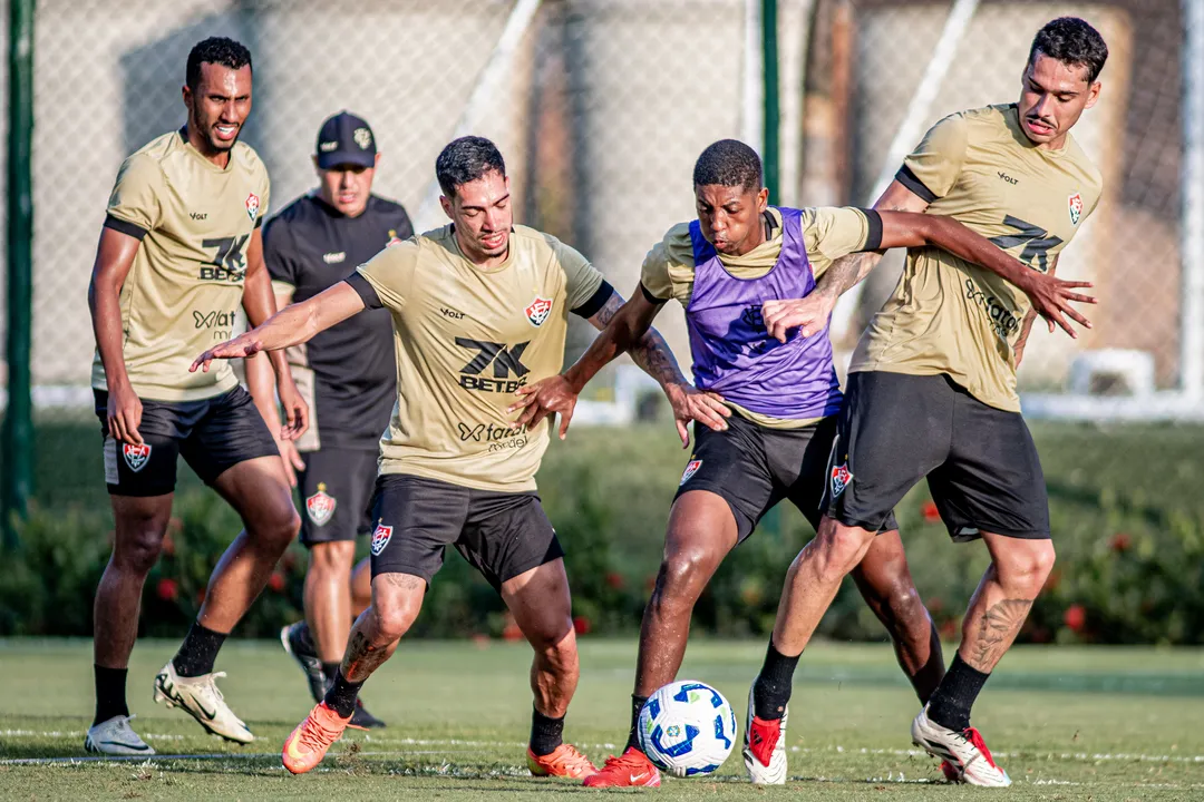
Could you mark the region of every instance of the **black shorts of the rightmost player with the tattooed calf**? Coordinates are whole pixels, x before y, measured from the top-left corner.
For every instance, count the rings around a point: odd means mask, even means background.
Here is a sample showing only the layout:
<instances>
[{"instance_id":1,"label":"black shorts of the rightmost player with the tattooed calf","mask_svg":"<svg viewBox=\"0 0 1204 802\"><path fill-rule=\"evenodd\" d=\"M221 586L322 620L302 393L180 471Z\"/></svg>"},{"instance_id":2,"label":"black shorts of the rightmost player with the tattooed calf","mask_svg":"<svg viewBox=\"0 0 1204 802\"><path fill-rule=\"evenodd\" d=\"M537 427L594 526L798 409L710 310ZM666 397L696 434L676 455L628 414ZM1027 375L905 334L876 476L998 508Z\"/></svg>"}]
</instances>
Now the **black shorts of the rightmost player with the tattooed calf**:
<instances>
[{"instance_id":1,"label":"black shorts of the rightmost player with the tattooed calf","mask_svg":"<svg viewBox=\"0 0 1204 802\"><path fill-rule=\"evenodd\" d=\"M828 515L873 529L921 479L949 535L1049 537L1049 498L1020 412L988 406L949 376L849 376L828 468Z\"/></svg>"}]
</instances>

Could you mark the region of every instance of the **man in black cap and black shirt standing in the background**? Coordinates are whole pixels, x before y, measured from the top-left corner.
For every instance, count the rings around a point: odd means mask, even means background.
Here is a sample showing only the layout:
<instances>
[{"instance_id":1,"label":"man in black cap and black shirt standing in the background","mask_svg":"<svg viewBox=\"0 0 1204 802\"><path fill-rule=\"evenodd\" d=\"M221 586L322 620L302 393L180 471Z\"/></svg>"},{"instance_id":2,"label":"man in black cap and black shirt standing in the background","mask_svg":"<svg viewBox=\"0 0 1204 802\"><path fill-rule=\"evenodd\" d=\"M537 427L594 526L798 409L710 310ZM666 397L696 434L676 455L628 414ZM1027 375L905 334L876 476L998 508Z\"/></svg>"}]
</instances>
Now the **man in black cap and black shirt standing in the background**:
<instances>
[{"instance_id":1,"label":"man in black cap and black shirt standing in the background","mask_svg":"<svg viewBox=\"0 0 1204 802\"><path fill-rule=\"evenodd\" d=\"M368 124L341 112L321 124L313 158L318 190L297 198L264 226L264 261L276 304L312 298L342 281L382 248L413 236L399 203L372 194L380 154ZM355 536L372 530L377 444L397 392L393 321L373 309L288 351L299 387L312 388L309 430L296 442L301 465L301 542L309 549L303 620L281 642L301 665L320 702L343 659L352 620L371 601L368 560L355 566ZM271 421L268 421L271 423ZM293 444L287 446L291 453ZM384 721L355 708L349 726Z\"/></svg>"}]
</instances>

